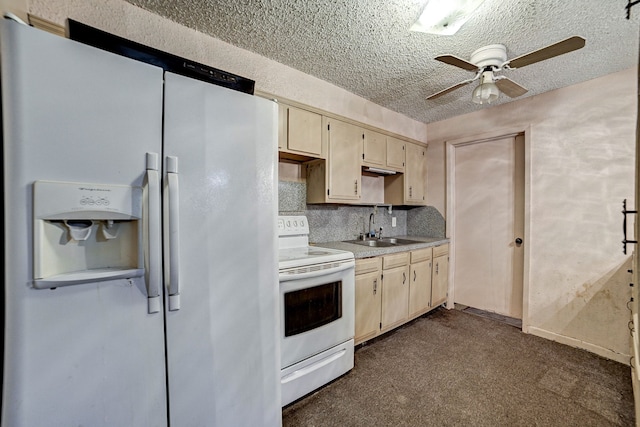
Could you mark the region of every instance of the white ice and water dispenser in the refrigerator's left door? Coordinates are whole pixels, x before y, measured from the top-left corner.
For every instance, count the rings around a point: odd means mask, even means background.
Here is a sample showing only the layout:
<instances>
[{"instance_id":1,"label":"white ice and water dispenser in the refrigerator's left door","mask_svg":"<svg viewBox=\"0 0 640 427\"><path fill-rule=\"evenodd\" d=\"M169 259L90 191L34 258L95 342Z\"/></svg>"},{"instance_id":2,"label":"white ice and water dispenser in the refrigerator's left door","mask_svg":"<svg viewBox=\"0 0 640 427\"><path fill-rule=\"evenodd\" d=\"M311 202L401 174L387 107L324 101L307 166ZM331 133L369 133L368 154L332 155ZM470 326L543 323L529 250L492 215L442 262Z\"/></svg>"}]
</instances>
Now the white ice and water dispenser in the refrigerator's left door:
<instances>
[{"instance_id":1,"label":"white ice and water dispenser in the refrigerator's left door","mask_svg":"<svg viewBox=\"0 0 640 427\"><path fill-rule=\"evenodd\" d=\"M142 188L37 181L34 287L144 275Z\"/></svg>"}]
</instances>

